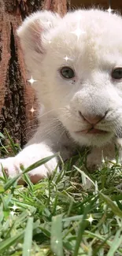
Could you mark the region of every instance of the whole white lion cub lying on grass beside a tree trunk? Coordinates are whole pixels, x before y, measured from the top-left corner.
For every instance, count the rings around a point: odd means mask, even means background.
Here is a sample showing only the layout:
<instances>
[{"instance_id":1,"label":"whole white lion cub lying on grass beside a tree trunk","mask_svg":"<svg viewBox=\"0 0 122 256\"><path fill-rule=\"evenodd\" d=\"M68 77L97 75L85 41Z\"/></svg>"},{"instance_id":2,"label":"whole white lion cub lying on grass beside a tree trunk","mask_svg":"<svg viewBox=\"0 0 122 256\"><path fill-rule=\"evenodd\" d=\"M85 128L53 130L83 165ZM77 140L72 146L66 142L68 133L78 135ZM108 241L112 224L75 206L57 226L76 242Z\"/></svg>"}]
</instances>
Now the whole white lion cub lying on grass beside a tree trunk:
<instances>
[{"instance_id":1,"label":"whole white lion cub lying on grass beside a tree trunk","mask_svg":"<svg viewBox=\"0 0 122 256\"><path fill-rule=\"evenodd\" d=\"M33 79L43 115L24 150L2 159L9 176L61 152L66 160L76 147L90 146L87 165L114 157L122 135L122 18L99 9L32 14L18 29L24 59ZM29 175L36 183L51 174L57 158ZM1 171L2 173L2 171ZM1 174L2 175L2 174Z\"/></svg>"}]
</instances>

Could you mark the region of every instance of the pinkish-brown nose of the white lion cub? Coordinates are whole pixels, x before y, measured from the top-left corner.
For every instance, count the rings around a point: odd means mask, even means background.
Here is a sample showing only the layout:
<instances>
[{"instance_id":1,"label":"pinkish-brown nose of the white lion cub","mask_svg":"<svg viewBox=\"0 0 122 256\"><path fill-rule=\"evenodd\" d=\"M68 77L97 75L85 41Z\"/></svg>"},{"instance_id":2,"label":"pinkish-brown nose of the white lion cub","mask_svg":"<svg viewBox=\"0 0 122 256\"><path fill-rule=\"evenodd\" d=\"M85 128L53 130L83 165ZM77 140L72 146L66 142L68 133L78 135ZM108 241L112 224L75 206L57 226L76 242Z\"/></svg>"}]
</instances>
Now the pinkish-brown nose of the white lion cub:
<instances>
[{"instance_id":1,"label":"pinkish-brown nose of the white lion cub","mask_svg":"<svg viewBox=\"0 0 122 256\"><path fill-rule=\"evenodd\" d=\"M89 115L83 115L80 111L79 111L79 115L80 117L83 118L84 121L87 121L90 124L97 124L99 121L102 121L102 119L104 119L105 115L98 115L98 116L89 116Z\"/></svg>"}]
</instances>

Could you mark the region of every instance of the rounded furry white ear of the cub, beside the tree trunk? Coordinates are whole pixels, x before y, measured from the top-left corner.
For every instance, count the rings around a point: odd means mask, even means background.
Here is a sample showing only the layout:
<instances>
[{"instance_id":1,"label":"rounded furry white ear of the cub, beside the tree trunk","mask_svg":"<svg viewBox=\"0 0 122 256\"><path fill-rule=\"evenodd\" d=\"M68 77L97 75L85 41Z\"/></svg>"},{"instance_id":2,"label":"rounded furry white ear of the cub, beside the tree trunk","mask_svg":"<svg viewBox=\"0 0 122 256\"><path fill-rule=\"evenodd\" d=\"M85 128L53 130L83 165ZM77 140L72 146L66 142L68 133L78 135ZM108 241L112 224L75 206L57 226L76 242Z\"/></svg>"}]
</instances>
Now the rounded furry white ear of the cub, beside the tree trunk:
<instances>
[{"instance_id":1,"label":"rounded furry white ear of the cub, beside the tree trunk","mask_svg":"<svg viewBox=\"0 0 122 256\"><path fill-rule=\"evenodd\" d=\"M39 54L44 53L42 36L50 32L51 28L55 28L60 20L61 17L57 13L39 11L27 17L17 29L27 65L29 61L34 61Z\"/></svg>"}]
</instances>

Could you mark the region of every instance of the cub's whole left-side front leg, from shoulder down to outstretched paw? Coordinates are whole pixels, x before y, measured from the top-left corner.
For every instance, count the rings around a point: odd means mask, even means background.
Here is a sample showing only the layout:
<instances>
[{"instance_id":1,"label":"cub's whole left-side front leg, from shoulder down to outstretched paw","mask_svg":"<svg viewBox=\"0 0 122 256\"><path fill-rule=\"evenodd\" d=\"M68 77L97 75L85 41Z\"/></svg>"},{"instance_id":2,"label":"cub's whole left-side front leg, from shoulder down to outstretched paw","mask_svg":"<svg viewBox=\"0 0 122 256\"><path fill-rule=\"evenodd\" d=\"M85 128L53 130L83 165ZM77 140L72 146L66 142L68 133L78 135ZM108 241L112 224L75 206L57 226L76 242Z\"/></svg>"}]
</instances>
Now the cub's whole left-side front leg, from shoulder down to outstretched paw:
<instances>
[{"instance_id":1,"label":"cub's whole left-side front leg, from shoulder down to outstretched paw","mask_svg":"<svg viewBox=\"0 0 122 256\"><path fill-rule=\"evenodd\" d=\"M50 135L46 135L46 129L50 130ZM52 128L52 131L51 131ZM6 174L9 177L16 176L21 173L20 165L24 165L24 169L28 166L39 161L42 158L49 157L60 151L63 160L68 159L72 156L72 145L68 141L68 137L62 128L54 131L50 122L47 120L43 121L41 127L34 135L34 137L28 142L24 150L20 151L17 156L13 158L0 159L0 164L6 170ZM54 169L57 167L59 158L52 158L47 161L46 164L40 165L39 167L31 170L28 174L33 183L38 182L43 177L46 177L53 173ZM0 176L2 176L2 166L0 166ZM21 180L19 183L23 183Z\"/></svg>"}]
</instances>

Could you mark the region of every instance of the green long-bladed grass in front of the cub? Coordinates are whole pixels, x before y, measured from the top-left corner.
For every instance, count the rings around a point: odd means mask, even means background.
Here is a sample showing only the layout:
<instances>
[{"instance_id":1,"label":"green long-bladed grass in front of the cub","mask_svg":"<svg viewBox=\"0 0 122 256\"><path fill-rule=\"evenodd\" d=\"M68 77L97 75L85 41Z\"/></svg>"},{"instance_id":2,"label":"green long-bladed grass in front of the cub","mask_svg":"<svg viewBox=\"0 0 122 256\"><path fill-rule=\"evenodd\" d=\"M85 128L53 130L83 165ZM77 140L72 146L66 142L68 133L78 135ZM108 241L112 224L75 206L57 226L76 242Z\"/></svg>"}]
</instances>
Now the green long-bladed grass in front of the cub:
<instances>
[{"instance_id":1,"label":"green long-bladed grass in front of the cub","mask_svg":"<svg viewBox=\"0 0 122 256\"><path fill-rule=\"evenodd\" d=\"M17 147L10 141L14 154ZM47 161L43 160L43 161ZM73 159L74 161L75 159ZM0 179L0 255L122 255L122 167L103 162L87 173L79 155L61 173L26 187L17 178ZM39 161L36 165L43 164ZM34 166L31 166L33 168Z\"/></svg>"}]
</instances>

